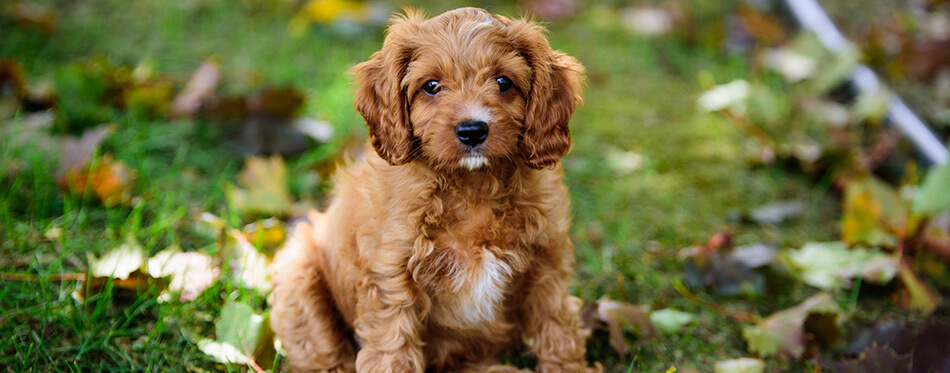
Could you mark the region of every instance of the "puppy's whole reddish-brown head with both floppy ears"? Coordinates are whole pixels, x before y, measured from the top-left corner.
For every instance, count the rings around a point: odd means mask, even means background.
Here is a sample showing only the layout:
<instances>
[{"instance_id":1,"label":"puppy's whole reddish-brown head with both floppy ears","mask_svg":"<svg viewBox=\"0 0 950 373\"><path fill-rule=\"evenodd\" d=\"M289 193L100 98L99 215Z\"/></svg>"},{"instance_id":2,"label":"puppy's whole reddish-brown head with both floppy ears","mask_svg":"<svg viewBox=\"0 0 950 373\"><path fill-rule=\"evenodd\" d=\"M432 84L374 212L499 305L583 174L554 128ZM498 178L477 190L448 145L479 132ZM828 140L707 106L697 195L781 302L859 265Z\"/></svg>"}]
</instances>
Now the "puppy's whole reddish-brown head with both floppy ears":
<instances>
[{"instance_id":1,"label":"puppy's whole reddish-brown head with both floppy ears","mask_svg":"<svg viewBox=\"0 0 950 373\"><path fill-rule=\"evenodd\" d=\"M354 72L356 108L390 164L540 169L570 148L584 68L552 50L538 25L462 8L395 18Z\"/></svg>"}]
</instances>

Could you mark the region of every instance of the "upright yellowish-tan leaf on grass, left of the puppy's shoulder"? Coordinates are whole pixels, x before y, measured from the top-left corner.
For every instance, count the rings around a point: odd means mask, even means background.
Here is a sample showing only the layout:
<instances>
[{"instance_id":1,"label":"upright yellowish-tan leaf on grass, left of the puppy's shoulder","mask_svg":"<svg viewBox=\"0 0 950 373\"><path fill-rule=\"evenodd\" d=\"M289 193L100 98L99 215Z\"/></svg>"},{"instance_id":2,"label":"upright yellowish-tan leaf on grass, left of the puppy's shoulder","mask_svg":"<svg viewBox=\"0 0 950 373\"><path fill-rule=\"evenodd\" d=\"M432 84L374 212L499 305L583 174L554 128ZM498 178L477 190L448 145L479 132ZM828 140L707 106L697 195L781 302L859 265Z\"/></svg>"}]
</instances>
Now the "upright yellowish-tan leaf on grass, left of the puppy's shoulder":
<instances>
[{"instance_id":1,"label":"upright yellowish-tan leaf on grass, left of the puppy's shoulder","mask_svg":"<svg viewBox=\"0 0 950 373\"><path fill-rule=\"evenodd\" d=\"M284 159L249 157L237 187L225 189L228 205L246 218L286 216L293 207Z\"/></svg>"}]
</instances>

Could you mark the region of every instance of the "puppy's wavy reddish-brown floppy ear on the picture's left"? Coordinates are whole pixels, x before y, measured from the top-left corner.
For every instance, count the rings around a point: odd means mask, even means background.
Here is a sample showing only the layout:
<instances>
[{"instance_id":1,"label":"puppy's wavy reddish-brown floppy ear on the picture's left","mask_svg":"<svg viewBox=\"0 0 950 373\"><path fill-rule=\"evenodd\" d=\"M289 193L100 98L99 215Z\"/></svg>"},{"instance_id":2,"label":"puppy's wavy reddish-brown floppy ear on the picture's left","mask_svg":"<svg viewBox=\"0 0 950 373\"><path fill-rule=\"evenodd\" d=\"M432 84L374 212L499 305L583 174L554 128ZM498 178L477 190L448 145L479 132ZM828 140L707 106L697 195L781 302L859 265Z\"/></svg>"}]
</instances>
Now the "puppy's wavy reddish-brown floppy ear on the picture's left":
<instances>
[{"instance_id":1,"label":"puppy's wavy reddish-brown floppy ear on the picture's left","mask_svg":"<svg viewBox=\"0 0 950 373\"><path fill-rule=\"evenodd\" d=\"M369 126L376 153L391 165L408 163L415 153L403 78L414 49L409 39L421 20L414 12L393 18L383 48L352 70L359 85L353 104Z\"/></svg>"}]
</instances>

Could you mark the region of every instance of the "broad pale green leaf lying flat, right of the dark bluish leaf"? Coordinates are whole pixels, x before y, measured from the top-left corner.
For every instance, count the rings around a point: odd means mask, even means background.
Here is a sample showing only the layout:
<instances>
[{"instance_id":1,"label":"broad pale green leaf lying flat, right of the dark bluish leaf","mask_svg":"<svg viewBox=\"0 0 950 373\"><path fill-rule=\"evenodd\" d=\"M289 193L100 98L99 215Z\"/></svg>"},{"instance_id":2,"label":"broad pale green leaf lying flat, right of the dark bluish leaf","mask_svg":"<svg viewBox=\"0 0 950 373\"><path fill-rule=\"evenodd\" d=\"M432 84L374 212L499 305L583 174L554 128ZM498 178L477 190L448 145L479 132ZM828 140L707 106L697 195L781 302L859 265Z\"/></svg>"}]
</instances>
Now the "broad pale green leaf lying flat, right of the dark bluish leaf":
<instances>
[{"instance_id":1,"label":"broad pale green leaf lying flat, right of the dark bluish leaf","mask_svg":"<svg viewBox=\"0 0 950 373\"><path fill-rule=\"evenodd\" d=\"M801 279L822 290L850 287L851 279L887 284L897 274L899 259L876 249L848 249L844 242L809 242L787 257L800 271Z\"/></svg>"}]
</instances>

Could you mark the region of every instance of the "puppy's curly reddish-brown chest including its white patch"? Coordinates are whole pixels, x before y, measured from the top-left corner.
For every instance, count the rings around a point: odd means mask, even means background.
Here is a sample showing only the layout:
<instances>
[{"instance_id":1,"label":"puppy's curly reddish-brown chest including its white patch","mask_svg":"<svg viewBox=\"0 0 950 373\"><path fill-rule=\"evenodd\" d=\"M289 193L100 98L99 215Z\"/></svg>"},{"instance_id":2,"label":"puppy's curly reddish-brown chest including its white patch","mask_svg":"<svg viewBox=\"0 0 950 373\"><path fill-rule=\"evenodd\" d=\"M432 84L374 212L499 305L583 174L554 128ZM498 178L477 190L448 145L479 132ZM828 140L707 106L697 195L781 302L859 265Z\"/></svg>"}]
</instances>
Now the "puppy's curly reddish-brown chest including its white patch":
<instances>
[{"instance_id":1,"label":"puppy's curly reddish-brown chest including its white patch","mask_svg":"<svg viewBox=\"0 0 950 373\"><path fill-rule=\"evenodd\" d=\"M506 299L524 272L525 250L518 219L491 206L459 209L432 227L433 251L425 281L436 322L477 327L503 318Z\"/></svg>"}]
</instances>

